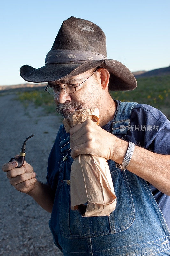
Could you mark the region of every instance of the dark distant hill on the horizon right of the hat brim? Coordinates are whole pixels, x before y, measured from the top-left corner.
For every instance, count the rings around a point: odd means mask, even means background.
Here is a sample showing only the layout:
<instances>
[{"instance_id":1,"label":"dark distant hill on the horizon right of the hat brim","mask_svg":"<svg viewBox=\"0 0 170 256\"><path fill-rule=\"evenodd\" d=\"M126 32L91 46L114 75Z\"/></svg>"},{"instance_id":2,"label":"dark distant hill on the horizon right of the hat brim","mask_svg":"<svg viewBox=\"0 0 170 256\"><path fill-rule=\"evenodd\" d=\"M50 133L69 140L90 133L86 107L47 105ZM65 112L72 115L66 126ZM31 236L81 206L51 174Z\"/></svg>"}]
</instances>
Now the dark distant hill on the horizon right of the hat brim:
<instances>
[{"instance_id":1,"label":"dark distant hill on the horizon right of the hat brim","mask_svg":"<svg viewBox=\"0 0 170 256\"><path fill-rule=\"evenodd\" d=\"M166 68L157 68L150 71L133 72L135 78L152 77L152 76L166 76L170 75L170 66Z\"/></svg>"}]
</instances>

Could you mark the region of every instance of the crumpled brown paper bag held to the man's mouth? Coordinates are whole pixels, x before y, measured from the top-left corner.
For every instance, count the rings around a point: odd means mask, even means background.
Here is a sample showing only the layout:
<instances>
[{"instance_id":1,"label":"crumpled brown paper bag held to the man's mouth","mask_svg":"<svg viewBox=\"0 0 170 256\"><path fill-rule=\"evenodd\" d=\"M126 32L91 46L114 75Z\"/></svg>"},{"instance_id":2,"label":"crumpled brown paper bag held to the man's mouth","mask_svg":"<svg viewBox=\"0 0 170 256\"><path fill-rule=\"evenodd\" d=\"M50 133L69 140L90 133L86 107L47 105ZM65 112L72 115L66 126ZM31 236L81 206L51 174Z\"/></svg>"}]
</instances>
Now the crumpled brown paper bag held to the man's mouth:
<instances>
[{"instance_id":1,"label":"crumpled brown paper bag held to the man's mouth","mask_svg":"<svg viewBox=\"0 0 170 256\"><path fill-rule=\"evenodd\" d=\"M76 124L91 119L99 124L99 110L78 109L63 120L66 132ZM71 165L71 209L78 210L85 203L83 217L107 216L116 207L116 195L108 163L105 158L80 154Z\"/></svg>"}]
</instances>

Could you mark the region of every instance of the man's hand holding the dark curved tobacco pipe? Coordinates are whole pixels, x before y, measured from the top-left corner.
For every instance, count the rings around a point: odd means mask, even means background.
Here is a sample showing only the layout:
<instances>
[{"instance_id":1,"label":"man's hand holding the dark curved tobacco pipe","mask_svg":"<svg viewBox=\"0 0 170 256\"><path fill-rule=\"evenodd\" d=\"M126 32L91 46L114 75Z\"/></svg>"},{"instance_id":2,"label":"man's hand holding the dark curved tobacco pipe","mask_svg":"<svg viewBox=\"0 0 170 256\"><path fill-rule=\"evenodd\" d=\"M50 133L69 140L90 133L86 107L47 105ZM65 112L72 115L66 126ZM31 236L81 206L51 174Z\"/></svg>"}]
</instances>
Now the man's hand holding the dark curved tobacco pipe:
<instances>
[{"instance_id":1,"label":"man's hand holding the dark curved tobacco pipe","mask_svg":"<svg viewBox=\"0 0 170 256\"><path fill-rule=\"evenodd\" d=\"M18 156L15 156L18 158ZM6 176L14 188L23 193L29 193L35 187L37 179L33 167L26 161L20 168L17 167L16 161L5 163L2 165L2 170L6 172Z\"/></svg>"}]
</instances>

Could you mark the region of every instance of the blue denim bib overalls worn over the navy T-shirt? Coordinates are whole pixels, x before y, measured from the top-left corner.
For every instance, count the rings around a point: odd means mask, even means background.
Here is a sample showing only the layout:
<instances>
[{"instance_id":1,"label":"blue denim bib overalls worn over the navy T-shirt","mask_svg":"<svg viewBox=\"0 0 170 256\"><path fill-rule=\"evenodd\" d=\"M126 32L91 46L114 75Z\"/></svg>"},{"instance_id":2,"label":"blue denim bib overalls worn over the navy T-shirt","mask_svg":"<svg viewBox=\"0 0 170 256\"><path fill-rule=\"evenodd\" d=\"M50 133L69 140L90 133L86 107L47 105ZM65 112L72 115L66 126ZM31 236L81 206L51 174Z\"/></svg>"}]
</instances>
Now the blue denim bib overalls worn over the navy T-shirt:
<instances>
[{"instance_id":1,"label":"blue denim bib overalls worn over the navy T-shirt","mask_svg":"<svg viewBox=\"0 0 170 256\"><path fill-rule=\"evenodd\" d=\"M113 134L126 136L132 108L137 103L121 102L112 123ZM82 217L70 209L70 142L60 126L58 186L49 226L65 256L159 256L170 255L170 232L147 182L116 168L108 160L116 209L110 216ZM65 157L66 156L66 157ZM61 158L61 159L62 159Z\"/></svg>"}]
</instances>

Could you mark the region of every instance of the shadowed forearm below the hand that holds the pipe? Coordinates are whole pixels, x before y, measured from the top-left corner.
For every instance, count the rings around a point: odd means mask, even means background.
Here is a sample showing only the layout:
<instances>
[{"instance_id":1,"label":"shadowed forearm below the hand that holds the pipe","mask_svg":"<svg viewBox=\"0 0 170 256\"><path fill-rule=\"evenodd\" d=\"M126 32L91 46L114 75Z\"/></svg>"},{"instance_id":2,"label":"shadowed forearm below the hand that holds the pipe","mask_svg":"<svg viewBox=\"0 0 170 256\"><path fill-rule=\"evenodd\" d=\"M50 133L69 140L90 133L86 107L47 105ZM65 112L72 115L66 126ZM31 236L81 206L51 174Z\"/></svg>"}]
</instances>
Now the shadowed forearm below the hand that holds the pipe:
<instances>
[{"instance_id":1,"label":"shadowed forearm below the hand that holds the pipe","mask_svg":"<svg viewBox=\"0 0 170 256\"><path fill-rule=\"evenodd\" d=\"M35 183L35 187L31 190L28 195L32 196L33 199L47 212L52 212L54 195L48 184L43 184L40 181Z\"/></svg>"}]
</instances>

